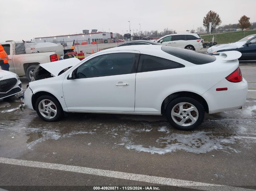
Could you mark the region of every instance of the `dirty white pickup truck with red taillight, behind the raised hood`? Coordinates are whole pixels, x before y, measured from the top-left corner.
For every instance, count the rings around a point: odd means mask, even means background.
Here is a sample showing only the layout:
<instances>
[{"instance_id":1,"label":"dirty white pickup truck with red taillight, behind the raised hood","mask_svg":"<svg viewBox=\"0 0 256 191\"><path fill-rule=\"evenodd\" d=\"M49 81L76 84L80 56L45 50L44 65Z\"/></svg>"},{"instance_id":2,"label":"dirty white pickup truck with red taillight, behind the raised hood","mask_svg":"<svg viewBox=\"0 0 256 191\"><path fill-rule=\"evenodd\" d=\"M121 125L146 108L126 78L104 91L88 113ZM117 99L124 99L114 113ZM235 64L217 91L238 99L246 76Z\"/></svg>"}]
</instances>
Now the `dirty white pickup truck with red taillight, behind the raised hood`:
<instances>
[{"instance_id":1,"label":"dirty white pickup truck with red taillight, behind the raised hood","mask_svg":"<svg viewBox=\"0 0 256 191\"><path fill-rule=\"evenodd\" d=\"M25 43L22 41L6 41L0 44L8 54L9 71L16 73L20 77L26 76L29 81L31 81L33 71L38 64L58 60L56 51L26 54Z\"/></svg>"}]
</instances>

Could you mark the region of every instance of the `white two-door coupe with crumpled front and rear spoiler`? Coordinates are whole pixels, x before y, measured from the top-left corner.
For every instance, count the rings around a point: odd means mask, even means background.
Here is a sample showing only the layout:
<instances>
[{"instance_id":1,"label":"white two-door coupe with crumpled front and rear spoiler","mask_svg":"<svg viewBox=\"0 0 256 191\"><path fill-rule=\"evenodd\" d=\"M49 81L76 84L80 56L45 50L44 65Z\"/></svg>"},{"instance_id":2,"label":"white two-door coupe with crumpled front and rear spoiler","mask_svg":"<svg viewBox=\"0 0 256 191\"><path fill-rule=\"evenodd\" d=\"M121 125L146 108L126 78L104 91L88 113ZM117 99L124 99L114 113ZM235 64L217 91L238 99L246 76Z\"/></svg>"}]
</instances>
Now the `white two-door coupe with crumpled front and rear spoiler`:
<instances>
[{"instance_id":1,"label":"white two-door coupe with crumpled front and rear spoiler","mask_svg":"<svg viewBox=\"0 0 256 191\"><path fill-rule=\"evenodd\" d=\"M63 112L166 115L177 129L209 114L241 108L247 96L237 51L210 56L161 45L121 46L40 64L23 106L45 121Z\"/></svg>"}]
</instances>

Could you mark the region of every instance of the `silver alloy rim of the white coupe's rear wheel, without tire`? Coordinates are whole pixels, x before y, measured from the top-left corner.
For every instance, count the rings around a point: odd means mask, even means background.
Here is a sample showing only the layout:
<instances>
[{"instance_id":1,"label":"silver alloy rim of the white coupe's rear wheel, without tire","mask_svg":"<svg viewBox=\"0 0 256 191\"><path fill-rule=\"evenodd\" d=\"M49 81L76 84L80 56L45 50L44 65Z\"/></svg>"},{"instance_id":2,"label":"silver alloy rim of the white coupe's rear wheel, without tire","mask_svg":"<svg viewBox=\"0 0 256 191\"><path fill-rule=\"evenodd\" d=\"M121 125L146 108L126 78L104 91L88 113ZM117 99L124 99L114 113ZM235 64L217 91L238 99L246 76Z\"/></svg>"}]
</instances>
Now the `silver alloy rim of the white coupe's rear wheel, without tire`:
<instances>
[{"instance_id":1,"label":"silver alloy rim of the white coupe's rear wheel, without tire","mask_svg":"<svg viewBox=\"0 0 256 191\"><path fill-rule=\"evenodd\" d=\"M181 102L172 108L171 118L180 126L191 126L198 120L198 110L191 103Z\"/></svg>"}]
</instances>

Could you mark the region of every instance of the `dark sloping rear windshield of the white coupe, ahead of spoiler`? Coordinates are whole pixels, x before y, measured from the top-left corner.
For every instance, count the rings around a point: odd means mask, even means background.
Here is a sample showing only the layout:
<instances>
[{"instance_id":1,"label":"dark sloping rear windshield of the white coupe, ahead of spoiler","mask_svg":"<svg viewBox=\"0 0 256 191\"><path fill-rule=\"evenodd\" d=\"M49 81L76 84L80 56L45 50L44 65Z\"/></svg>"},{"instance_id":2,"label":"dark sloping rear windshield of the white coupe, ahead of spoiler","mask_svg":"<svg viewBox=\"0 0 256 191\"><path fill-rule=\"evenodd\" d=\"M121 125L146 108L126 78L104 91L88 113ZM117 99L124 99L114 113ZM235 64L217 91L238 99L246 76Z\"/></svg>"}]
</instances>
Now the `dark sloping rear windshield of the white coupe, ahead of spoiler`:
<instances>
[{"instance_id":1,"label":"dark sloping rear windshield of the white coupe, ahead of spoiler","mask_svg":"<svg viewBox=\"0 0 256 191\"><path fill-rule=\"evenodd\" d=\"M168 54L171 54L173 56L176 56L178 58L181 58L193 64L207 64L207 63L214 62L216 60L214 56L197 53L192 50L170 47L170 46L162 46L161 49L162 51Z\"/></svg>"}]
</instances>

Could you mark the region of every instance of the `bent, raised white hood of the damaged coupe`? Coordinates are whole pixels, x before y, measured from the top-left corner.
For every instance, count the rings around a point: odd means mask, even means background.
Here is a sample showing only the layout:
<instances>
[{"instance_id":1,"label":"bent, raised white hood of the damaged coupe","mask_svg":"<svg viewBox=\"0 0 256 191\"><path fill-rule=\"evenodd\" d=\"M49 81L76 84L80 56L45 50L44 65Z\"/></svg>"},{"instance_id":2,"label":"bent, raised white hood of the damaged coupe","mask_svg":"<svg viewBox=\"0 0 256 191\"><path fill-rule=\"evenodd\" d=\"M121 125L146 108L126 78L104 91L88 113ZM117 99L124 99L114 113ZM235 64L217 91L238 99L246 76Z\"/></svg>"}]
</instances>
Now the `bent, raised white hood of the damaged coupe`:
<instances>
[{"instance_id":1,"label":"bent, raised white hood of the damaged coupe","mask_svg":"<svg viewBox=\"0 0 256 191\"><path fill-rule=\"evenodd\" d=\"M42 68L45 68L48 72L50 72L54 76L58 76L58 74L65 68L77 65L81 60L77 58L69 58L65 60L58 60L55 62L48 62L45 64L40 64Z\"/></svg>"}]
</instances>

